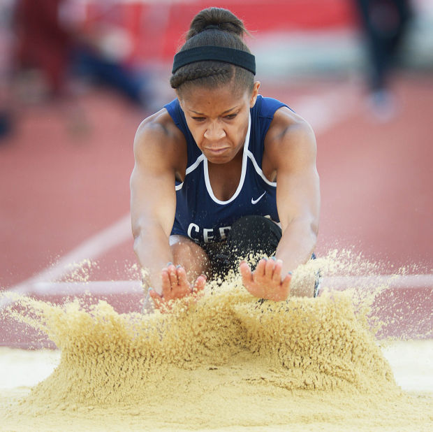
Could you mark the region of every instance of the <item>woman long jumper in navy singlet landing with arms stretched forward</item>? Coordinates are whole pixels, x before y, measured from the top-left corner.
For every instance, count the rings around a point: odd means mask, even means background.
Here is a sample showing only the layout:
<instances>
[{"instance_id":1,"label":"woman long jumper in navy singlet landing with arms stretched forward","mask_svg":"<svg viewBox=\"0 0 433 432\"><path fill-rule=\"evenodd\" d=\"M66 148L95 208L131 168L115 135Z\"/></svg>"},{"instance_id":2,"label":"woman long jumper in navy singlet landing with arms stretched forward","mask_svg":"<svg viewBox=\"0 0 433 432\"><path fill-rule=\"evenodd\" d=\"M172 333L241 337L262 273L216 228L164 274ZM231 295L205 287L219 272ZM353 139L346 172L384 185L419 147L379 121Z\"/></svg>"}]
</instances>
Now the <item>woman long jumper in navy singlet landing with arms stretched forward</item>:
<instances>
[{"instance_id":1,"label":"woman long jumper in navy singlet landing with arms stretched forward","mask_svg":"<svg viewBox=\"0 0 433 432\"><path fill-rule=\"evenodd\" d=\"M258 298L316 295L290 285L316 245L316 140L302 117L258 93L245 34L229 10L198 13L173 63L177 99L135 136L134 250L156 308L230 269ZM244 258L257 253L254 268Z\"/></svg>"}]
</instances>

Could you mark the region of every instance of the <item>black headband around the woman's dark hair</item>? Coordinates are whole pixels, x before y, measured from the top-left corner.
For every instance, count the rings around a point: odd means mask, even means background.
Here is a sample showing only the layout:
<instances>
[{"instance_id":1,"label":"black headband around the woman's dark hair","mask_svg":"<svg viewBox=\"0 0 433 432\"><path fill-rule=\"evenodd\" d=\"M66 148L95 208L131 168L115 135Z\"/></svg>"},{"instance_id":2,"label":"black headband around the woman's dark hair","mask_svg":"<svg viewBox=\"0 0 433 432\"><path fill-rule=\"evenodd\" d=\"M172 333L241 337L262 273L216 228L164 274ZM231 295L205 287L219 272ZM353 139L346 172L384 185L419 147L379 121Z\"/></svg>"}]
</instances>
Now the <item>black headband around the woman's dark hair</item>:
<instances>
[{"instance_id":1,"label":"black headband around the woman's dark hair","mask_svg":"<svg viewBox=\"0 0 433 432\"><path fill-rule=\"evenodd\" d=\"M175 73L177 69L186 64L203 62L203 60L216 60L217 62L234 64L256 75L256 58L254 55L247 51L218 47L215 45L205 45L203 47L179 51L175 55L173 71L171 71L171 73Z\"/></svg>"}]
</instances>

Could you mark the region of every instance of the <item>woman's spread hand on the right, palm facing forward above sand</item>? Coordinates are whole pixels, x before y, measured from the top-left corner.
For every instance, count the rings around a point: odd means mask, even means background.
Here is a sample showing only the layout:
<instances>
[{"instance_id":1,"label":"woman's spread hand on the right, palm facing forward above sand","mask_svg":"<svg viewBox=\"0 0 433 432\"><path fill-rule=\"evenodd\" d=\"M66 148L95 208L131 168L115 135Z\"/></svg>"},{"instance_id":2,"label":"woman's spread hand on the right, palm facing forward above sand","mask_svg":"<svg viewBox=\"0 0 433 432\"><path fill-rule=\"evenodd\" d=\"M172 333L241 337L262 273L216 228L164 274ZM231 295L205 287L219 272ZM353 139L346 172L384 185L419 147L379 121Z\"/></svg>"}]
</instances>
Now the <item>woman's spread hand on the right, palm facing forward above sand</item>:
<instances>
[{"instance_id":1,"label":"woman's spread hand on the right, palm facing forward above sand","mask_svg":"<svg viewBox=\"0 0 433 432\"><path fill-rule=\"evenodd\" d=\"M251 271L247 261L241 261L239 265L240 274L244 287L258 298L267 300L283 301L290 294L290 282L292 275L288 273L281 278L281 259L260 259L256 270Z\"/></svg>"}]
</instances>

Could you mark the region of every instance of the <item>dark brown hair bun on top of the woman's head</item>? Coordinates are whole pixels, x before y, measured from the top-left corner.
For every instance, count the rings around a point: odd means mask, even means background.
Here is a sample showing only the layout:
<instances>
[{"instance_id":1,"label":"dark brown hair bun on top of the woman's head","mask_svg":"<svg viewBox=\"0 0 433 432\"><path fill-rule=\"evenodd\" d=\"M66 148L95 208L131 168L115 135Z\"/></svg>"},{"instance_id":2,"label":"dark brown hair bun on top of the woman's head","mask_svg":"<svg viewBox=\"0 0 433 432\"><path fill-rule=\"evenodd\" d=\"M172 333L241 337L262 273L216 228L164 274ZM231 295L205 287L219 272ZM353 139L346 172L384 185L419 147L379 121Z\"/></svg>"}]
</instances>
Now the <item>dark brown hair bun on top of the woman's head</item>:
<instances>
[{"instance_id":1,"label":"dark brown hair bun on top of the woman's head","mask_svg":"<svg viewBox=\"0 0 433 432\"><path fill-rule=\"evenodd\" d=\"M223 8L207 8L201 10L191 21L186 34L186 41L205 30L222 30L237 36L248 34L244 23L230 10Z\"/></svg>"}]
</instances>

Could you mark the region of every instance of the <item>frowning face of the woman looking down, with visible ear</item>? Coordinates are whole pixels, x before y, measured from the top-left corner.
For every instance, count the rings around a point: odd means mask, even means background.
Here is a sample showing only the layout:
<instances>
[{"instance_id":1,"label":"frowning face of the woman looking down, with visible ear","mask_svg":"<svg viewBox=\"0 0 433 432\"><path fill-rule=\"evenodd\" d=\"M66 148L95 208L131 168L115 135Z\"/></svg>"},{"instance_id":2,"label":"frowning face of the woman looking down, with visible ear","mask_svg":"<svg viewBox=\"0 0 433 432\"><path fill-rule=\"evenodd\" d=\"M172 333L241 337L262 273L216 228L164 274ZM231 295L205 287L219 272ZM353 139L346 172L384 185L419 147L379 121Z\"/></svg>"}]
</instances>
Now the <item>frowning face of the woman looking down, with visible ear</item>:
<instances>
[{"instance_id":1,"label":"frowning face of the woman looking down, with visible ear","mask_svg":"<svg viewBox=\"0 0 433 432\"><path fill-rule=\"evenodd\" d=\"M232 84L216 89L191 86L178 94L189 130L208 161L226 164L243 147L258 87L258 81L252 92Z\"/></svg>"}]
</instances>

